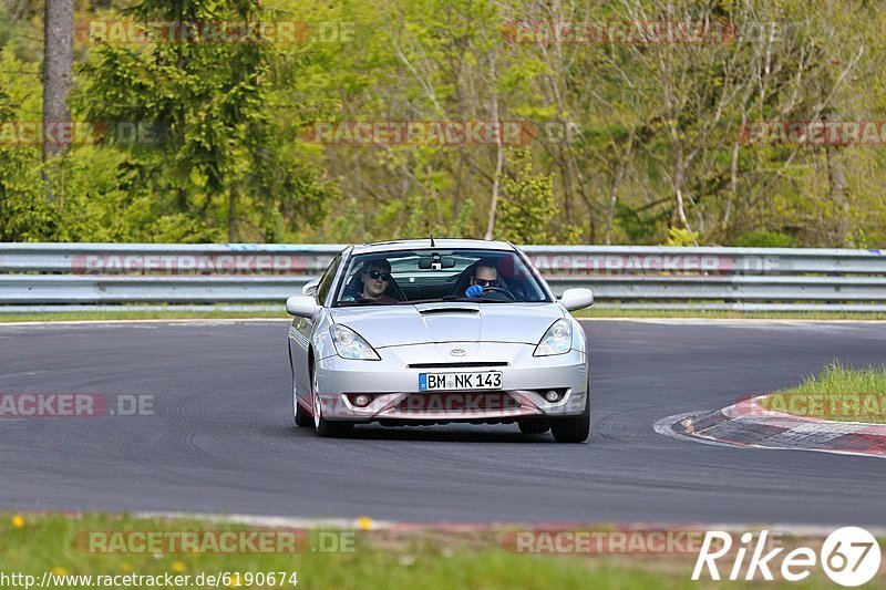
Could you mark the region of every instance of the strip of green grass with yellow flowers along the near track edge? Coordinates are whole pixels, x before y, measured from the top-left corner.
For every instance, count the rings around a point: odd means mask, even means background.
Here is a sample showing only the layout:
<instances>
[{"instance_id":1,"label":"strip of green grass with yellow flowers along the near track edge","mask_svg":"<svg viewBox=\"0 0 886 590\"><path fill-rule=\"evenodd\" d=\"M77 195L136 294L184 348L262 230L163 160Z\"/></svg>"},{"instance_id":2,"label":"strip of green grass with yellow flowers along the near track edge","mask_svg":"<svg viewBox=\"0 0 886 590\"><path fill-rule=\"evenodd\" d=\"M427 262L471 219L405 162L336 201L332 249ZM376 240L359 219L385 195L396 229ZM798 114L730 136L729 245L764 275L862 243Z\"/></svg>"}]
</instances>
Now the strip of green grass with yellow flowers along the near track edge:
<instances>
[{"instance_id":1,"label":"strip of green grass with yellow flowers along the near track edge","mask_svg":"<svg viewBox=\"0 0 886 590\"><path fill-rule=\"evenodd\" d=\"M351 552L298 553L96 553L76 542L89 531L247 530L244 526L209 525L188 519L137 519L130 516L0 515L0 572L33 575L116 576L189 575L200 572L292 572L298 588L713 588L710 580L690 580L694 555L658 556L530 556L505 551L498 534L456 535L452 531L354 532ZM256 530L249 527L248 530ZM312 534L317 541L317 531ZM317 545L313 545L317 547ZM806 588L824 587L823 575ZM193 579L193 578L192 578ZM245 577L241 578L245 580ZM811 584L811 586L810 586ZM731 582L731 587L751 588ZM787 584L767 586L786 588ZM64 588L85 588L70 584ZM199 588L187 586L187 588ZM271 588L237 586L222 588ZM279 586L276 588L292 588ZM794 588L793 586L791 588ZM804 588L799 586L796 588Z\"/></svg>"}]
</instances>

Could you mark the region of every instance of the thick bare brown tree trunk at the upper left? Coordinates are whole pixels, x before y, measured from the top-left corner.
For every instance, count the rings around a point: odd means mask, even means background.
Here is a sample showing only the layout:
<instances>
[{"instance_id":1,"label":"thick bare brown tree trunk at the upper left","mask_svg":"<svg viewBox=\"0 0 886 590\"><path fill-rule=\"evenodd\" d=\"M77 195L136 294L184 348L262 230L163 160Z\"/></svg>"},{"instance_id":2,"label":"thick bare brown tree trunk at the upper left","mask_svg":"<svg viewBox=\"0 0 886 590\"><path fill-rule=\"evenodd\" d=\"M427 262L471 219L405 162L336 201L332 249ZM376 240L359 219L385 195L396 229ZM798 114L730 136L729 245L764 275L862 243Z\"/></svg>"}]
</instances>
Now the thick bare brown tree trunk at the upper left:
<instances>
[{"instance_id":1,"label":"thick bare brown tree trunk at the upper left","mask_svg":"<svg viewBox=\"0 0 886 590\"><path fill-rule=\"evenodd\" d=\"M54 130L71 121L68 94L73 79L74 2L47 0L43 31L43 128ZM43 142L43 161L65 149L56 142Z\"/></svg>"}]
</instances>

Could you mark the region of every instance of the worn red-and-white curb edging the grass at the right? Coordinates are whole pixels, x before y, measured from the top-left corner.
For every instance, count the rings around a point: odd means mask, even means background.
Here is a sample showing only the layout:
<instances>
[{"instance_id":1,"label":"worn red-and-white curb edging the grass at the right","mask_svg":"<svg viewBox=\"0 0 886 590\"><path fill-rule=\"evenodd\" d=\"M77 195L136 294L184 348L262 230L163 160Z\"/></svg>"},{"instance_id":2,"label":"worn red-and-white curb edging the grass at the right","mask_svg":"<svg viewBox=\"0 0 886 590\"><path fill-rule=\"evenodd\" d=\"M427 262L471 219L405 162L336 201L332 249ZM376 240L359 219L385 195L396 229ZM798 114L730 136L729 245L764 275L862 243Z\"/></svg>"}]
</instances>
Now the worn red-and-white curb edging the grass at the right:
<instances>
[{"instance_id":1,"label":"worn red-and-white curb edging the grass at the right","mask_svg":"<svg viewBox=\"0 0 886 590\"><path fill-rule=\"evenodd\" d=\"M657 433L686 441L886 458L886 424L834 422L763 408L761 395L723 410L677 414L658 421Z\"/></svg>"}]
</instances>

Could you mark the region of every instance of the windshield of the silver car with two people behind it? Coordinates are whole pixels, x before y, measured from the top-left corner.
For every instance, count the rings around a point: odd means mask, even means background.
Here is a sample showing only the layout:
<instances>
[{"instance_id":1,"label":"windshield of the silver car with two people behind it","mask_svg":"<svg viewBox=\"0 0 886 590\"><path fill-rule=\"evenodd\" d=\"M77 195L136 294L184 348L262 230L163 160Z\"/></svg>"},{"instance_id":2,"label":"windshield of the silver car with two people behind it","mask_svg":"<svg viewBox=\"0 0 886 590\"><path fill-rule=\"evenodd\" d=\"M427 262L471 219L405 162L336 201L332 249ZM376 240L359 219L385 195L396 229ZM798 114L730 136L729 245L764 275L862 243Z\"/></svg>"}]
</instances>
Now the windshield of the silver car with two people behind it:
<instances>
[{"instance_id":1,"label":"windshield of the silver car with two people behind it","mask_svg":"<svg viewBox=\"0 0 886 590\"><path fill-rule=\"evenodd\" d=\"M334 307L435 301L550 302L538 273L513 251L398 250L351 257Z\"/></svg>"}]
</instances>

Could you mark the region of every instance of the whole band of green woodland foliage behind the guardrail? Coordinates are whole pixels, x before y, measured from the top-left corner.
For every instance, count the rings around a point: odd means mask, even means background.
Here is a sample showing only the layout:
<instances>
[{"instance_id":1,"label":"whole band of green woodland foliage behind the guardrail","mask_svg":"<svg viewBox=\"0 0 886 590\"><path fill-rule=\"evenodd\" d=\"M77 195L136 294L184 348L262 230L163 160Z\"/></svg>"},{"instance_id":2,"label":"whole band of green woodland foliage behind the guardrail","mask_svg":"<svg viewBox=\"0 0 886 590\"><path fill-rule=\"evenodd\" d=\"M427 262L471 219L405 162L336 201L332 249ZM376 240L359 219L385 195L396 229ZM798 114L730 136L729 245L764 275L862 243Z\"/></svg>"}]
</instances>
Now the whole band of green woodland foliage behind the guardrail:
<instances>
[{"instance_id":1,"label":"whole band of green woodland foliage behind the guardrail","mask_svg":"<svg viewBox=\"0 0 886 590\"><path fill-rule=\"evenodd\" d=\"M886 246L885 151L754 143L739 133L742 122L882 121L886 17L875 2L145 0L75 8L81 22L297 20L315 33L347 33L298 43L78 40L74 120L155 124L163 141L73 145L47 164L39 145L0 142L3 240L481 237L498 174L494 142L323 145L305 131L322 122L499 121L529 131L522 145L506 146L496 237ZM3 121L41 117L41 14L39 3L0 3ZM515 21L638 14L728 20L741 34L672 44L507 38ZM785 23L775 42L749 24L766 22ZM671 227L683 217L687 228Z\"/></svg>"}]
</instances>

